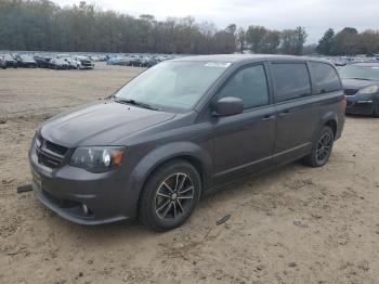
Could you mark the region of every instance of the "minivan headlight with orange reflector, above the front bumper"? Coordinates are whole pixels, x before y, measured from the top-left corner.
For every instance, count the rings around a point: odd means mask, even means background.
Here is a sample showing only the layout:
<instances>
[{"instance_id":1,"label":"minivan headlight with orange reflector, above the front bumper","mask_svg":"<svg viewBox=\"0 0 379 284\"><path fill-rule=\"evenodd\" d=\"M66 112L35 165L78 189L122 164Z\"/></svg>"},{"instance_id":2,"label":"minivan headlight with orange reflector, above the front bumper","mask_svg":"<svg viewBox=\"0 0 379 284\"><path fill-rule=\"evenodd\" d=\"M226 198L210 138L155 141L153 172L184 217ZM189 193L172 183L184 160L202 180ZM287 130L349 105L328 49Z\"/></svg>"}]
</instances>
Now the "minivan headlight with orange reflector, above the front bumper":
<instances>
[{"instance_id":1,"label":"minivan headlight with orange reflector, above the front bumper","mask_svg":"<svg viewBox=\"0 0 379 284\"><path fill-rule=\"evenodd\" d=\"M117 168L126 153L122 146L93 146L75 150L70 166L86 169L90 172L105 172Z\"/></svg>"}]
</instances>

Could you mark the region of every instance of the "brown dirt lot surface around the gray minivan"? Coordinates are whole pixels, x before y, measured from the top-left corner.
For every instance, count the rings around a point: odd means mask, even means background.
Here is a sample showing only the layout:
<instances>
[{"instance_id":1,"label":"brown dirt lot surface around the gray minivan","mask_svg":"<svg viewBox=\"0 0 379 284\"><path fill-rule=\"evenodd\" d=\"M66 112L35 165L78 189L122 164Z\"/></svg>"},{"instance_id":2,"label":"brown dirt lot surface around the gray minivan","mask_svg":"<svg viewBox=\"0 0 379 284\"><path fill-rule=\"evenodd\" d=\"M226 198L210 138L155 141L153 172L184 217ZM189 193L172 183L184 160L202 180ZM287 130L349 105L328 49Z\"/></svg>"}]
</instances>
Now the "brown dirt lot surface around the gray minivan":
<instances>
[{"instance_id":1,"label":"brown dirt lot surface around the gray minivan","mask_svg":"<svg viewBox=\"0 0 379 284\"><path fill-rule=\"evenodd\" d=\"M293 163L236 182L167 233L77 225L32 192L16 193L30 183L27 150L40 122L112 94L142 70L0 70L0 283L379 280L379 119L370 117L347 118L325 167Z\"/></svg>"}]
</instances>

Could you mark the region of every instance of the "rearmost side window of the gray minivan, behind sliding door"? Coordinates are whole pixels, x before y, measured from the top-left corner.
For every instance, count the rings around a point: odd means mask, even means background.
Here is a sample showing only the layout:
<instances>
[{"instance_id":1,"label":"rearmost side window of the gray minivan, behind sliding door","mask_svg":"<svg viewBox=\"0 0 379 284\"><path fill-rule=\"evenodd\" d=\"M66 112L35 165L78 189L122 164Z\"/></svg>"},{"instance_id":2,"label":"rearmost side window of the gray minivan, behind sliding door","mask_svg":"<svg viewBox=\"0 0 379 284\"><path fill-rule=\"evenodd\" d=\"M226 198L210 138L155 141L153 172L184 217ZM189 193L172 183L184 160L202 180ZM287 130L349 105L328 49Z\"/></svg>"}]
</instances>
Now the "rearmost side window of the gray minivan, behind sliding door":
<instances>
[{"instance_id":1,"label":"rearmost side window of the gray minivan, behind sliding door","mask_svg":"<svg viewBox=\"0 0 379 284\"><path fill-rule=\"evenodd\" d=\"M310 62L309 66L314 85L314 94L335 92L342 89L336 69L329 64Z\"/></svg>"}]
</instances>

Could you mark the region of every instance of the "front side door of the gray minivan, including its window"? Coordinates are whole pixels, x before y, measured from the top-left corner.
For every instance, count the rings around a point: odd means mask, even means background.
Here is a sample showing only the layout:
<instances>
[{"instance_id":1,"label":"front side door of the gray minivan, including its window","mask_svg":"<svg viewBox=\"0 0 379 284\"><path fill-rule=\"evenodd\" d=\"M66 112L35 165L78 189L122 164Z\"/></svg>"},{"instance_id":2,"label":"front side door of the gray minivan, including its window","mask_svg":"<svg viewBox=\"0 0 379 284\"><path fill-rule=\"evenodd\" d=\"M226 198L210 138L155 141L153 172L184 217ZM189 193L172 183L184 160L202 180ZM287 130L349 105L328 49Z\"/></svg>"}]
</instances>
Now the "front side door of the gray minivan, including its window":
<instances>
[{"instance_id":1,"label":"front side door of the gray minivan, including its window","mask_svg":"<svg viewBox=\"0 0 379 284\"><path fill-rule=\"evenodd\" d=\"M225 96L241 99L244 112L214 118L215 184L271 166L275 145L276 109L263 63L234 73L217 100Z\"/></svg>"}]
</instances>

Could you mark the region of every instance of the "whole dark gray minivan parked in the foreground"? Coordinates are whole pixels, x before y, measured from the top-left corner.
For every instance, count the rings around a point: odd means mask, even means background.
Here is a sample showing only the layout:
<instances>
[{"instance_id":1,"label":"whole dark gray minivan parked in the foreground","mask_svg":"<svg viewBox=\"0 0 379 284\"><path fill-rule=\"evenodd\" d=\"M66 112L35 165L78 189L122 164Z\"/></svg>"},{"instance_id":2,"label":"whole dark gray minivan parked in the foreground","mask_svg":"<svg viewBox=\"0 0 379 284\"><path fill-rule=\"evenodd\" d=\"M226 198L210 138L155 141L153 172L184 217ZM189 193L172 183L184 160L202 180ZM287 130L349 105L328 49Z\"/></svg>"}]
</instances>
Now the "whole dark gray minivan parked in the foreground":
<instances>
[{"instance_id":1,"label":"whole dark gray minivan parked in the foreground","mask_svg":"<svg viewBox=\"0 0 379 284\"><path fill-rule=\"evenodd\" d=\"M211 55L160 63L112 98L58 115L29 151L34 190L82 224L140 218L164 231L199 197L303 158L324 166L345 98L327 61Z\"/></svg>"}]
</instances>

